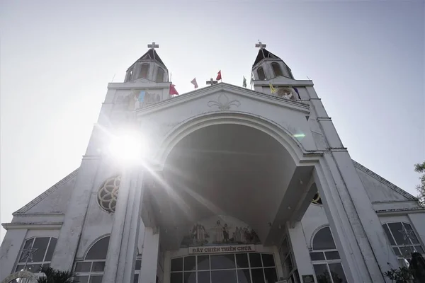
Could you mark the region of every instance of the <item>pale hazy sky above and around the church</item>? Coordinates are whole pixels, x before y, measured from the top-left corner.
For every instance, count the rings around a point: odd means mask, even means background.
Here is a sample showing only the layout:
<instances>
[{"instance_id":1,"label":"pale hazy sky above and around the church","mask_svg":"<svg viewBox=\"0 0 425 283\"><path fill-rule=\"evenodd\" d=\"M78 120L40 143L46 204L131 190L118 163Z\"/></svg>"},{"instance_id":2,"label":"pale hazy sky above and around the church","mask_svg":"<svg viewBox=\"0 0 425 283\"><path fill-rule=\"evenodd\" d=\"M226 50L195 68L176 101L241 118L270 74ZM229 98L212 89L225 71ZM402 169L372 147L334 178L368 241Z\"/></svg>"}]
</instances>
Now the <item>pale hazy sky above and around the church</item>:
<instances>
[{"instance_id":1,"label":"pale hazy sky above and around the church","mask_svg":"<svg viewBox=\"0 0 425 283\"><path fill-rule=\"evenodd\" d=\"M265 42L314 81L351 157L416 195L424 14L401 0L1 1L1 222L79 167L107 83L152 41L180 93L219 69L242 86Z\"/></svg>"}]
</instances>

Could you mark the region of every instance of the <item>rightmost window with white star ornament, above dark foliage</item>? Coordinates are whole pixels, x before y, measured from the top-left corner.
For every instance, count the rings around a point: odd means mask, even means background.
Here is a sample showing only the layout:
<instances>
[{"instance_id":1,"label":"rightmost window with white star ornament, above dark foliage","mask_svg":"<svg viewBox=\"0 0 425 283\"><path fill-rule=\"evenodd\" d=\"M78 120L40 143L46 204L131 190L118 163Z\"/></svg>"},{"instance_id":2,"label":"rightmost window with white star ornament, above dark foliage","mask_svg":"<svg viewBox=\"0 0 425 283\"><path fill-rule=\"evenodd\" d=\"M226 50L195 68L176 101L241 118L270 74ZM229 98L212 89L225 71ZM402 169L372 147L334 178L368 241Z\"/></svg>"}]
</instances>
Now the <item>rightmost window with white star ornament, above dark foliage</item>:
<instances>
[{"instance_id":1,"label":"rightmost window with white star ornament, above dark foliage","mask_svg":"<svg viewBox=\"0 0 425 283\"><path fill-rule=\"evenodd\" d=\"M412 253L425 254L424 248L419 243L418 237L414 233L412 226L404 222L392 222L382 225L392 250L399 260L400 265L407 265L404 258L412 258Z\"/></svg>"}]
</instances>

